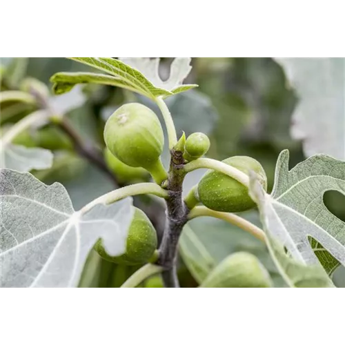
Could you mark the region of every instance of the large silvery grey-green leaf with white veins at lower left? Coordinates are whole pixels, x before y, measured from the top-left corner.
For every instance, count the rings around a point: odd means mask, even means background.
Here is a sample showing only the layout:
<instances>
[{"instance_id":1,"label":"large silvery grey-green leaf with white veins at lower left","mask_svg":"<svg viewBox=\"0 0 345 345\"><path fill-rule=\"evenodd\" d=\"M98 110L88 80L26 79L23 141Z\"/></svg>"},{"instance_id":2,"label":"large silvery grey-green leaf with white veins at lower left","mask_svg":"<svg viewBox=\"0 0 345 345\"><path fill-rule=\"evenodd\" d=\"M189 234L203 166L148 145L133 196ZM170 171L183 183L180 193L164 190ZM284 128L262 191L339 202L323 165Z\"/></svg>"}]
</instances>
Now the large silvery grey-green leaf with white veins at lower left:
<instances>
[{"instance_id":1,"label":"large silvery grey-green leaf with white veins at lower left","mask_svg":"<svg viewBox=\"0 0 345 345\"><path fill-rule=\"evenodd\" d=\"M30 173L0 170L1 287L75 288L99 238L111 255L126 249L132 199L75 212L66 189Z\"/></svg>"}]
</instances>

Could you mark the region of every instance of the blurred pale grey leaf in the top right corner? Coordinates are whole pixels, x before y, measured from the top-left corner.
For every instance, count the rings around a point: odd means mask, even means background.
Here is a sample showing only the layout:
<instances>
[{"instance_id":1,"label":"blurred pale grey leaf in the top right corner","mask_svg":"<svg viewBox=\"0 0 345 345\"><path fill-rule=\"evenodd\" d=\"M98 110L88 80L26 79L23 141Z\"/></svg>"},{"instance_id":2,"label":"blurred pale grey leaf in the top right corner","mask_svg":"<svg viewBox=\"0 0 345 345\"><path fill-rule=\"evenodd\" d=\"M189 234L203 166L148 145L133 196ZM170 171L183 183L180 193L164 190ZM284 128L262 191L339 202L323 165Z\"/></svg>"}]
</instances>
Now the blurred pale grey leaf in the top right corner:
<instances>
[{"instance_id":1,"label":"blurred pale grey leaf in the top right corner","mask_svg":"<svg viewBox=\"0 0 345 345\"><path fill-rule=\"evenodd\" d=\"M291 134L306 157L319 153L345 160L345 57L278 55L299 103Z\"/></svg>"}]
</instances>

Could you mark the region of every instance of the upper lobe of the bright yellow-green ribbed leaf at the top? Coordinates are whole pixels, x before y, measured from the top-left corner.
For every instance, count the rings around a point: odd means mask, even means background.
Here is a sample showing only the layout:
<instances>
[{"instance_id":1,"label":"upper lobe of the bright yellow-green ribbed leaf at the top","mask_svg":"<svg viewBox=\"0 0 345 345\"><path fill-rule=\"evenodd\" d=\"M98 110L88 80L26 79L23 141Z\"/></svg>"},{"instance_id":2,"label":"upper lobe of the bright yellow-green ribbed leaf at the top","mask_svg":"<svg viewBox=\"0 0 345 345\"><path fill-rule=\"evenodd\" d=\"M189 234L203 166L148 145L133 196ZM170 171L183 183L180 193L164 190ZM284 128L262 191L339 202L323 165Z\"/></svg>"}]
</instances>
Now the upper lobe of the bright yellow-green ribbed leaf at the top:
<instances>
[{"instance_id":1,"label":"upper lobe of the bright yellow-green ribbed leaf at the top","mask_svg":"<svg viewBox=\"0 0 345 345\"><path fill-rule=\"evenodd\" d=\"M85 63L88 66L109 73L121 79L121 87L126 86L126 88L136 90L151 99L164 95L172 95L172 93L167 90L156 88L141 72L139 72L139 70L117 59L112 59L111 57L68 57L68 59Z\"/></svg>"}]
</instances>

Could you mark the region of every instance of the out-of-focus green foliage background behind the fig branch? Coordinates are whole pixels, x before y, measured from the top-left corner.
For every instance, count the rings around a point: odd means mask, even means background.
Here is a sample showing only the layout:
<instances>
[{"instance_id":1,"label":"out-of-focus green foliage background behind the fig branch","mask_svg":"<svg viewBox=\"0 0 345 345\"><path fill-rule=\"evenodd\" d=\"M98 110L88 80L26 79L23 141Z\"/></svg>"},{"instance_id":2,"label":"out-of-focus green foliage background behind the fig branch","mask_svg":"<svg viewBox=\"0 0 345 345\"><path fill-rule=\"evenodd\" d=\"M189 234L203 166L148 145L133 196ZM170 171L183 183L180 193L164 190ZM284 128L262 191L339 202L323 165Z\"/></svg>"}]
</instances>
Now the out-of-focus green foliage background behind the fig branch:
<instances>
[{"instance_id":1,"label":"out-of-focus green foliage background behind the fig branch","mask_svg":"<svg viewBox=\"0 0 345 345\"><path fill-rule=\"evenodd\" d=\"M168 76L170 57L162 59L161 76ZM282 68L270 57L195 57L193 70L186 82L199 88L167 100L177 128L189 135L204 132L210 137L208 157L226 159L233 155L248 155L261 162L268 176L268 190L274 183L275 163L279 152L290 150L290 167L305 159L302 145L290 137L291 115L297 104L295 92L286 87ZM55 72L95 72L81 63L63 57L1 58L0 90L18 90L25 77L34 77L51 88L50 77ZM155 105L144 97L112 86L86 85L86 103L66 115L74 129L103 151L103 126L106 119L123 103L139 101L159 116ZM20 102L0 104L1 131L34 110L34 106ZM161 119L162 120L162 119ZM116 188L114 182L97 167L81 157L70 138L59 128L48 124L35 132L23 132L17 144L48 148L55 154L52 168L33 172L45 183L61 182L72 199L75 209ZM168 150L163 161L169 163ZM188 175L184 188L197 184L204 170ZM164 226L164 207L150 197L136 197L152 219L159 238ZM345 220L344 197L339 193L325 195L328 208ZM160 219L157 219L160 215ZM260 225L256 210L243 215ZM197 286L198 272L212 269L224 257L239 250L256 255L266 266L276 286L284 286L282 279L261 242L235 226L217 219L195 219L184 231L184 249L179 260L181 286ZM197 244L197 245L196 245ZM189 254L188 254L189 253ZM186 255L190 257L186 257ZM187 255L187 256L188 256ZM195 264L193 264L193 262ZM206 264L204 264L204 262ZM196 268L196 266L198 266ZM204 267L201 267L203 266ZM137 270L137 266L119 266L106 262L91 252L81 277L81 288L116 288ZM344 268L335 273L337 286L345 287ZM159 277L148 279L141 287L162 287Z\"/></svg>"}]
</instances>

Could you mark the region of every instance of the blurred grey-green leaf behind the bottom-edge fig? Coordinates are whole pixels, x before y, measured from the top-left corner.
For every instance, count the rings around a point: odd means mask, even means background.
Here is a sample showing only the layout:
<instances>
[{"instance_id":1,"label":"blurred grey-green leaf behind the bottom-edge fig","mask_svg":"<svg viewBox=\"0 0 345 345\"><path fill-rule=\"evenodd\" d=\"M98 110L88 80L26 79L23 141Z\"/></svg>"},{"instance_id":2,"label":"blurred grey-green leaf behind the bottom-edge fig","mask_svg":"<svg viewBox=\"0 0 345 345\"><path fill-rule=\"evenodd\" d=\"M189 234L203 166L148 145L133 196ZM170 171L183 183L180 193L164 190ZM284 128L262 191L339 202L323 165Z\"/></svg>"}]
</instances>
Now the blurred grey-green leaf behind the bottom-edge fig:
<instances>
[{"instance_id":1,"label":"blurred grey-green leaf behind the bottom-edge fig","mask_svg":"<svg viewBox=\"0 0 345 345\"><path fill-rule=\"evenodd\" d=\"M256 211L239 215L257 226L261 224ZM212 217L193 219L184 227L179 239L181 257L199 284L223 259L239 251L255 255L270 273L275 286L285 286L265 244L237 226Z\"/></svg>"}]
</instances>

